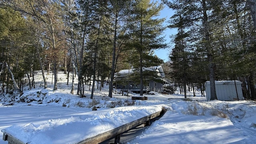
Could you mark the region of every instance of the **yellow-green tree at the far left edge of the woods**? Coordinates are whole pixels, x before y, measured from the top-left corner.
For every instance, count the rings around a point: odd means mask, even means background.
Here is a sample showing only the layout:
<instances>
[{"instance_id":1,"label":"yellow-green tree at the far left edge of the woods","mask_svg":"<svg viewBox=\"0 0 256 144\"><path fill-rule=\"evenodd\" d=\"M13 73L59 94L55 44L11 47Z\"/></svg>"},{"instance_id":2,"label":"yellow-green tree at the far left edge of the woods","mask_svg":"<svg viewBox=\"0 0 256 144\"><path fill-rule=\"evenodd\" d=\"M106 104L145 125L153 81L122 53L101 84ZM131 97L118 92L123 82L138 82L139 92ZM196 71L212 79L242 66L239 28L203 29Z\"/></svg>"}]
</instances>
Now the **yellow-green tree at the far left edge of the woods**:
<instances>
[{"instance_id":1,"label":"yellow-green tree at the far left edge of the woods","mask_svg":"<svg viewBox=\"0 0 256 144\"><path fill-rule=\"evenodd\" d=\"M3 82L3 92L8 93L12 87L17 90L18 84L14 80L19 80L19 83L22 84L21 79L25 71L29 70L28 67L24 67L26 65L24 53L29 48L24 44L27 42L26 36L29 35L27 28L25 19L20 12L6 6L0 7L0 71L3 73L0 81ZM10 82L10 78L12 78L13 84ZM6 91L4 86L6 86ZM18 88L18 90L22 95L21 89Z\"/></svg>"}]
</instances>

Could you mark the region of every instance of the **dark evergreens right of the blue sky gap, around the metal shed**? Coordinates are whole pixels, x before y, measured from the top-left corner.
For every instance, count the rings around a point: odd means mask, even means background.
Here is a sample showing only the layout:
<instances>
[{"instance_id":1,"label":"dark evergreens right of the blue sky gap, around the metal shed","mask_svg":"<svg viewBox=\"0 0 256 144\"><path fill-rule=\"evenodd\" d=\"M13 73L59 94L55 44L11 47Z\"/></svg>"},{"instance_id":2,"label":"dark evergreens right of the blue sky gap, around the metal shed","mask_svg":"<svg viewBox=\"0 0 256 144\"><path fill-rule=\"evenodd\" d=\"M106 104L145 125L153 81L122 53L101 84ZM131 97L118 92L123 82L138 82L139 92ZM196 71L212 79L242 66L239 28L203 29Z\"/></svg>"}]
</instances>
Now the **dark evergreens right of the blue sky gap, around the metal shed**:
<instances>
[{"instance_id":1,"label":"dark evergreens right of the blue sky gap, around the metal shed","mask_svg":"<svg viewBox=\"0 0 256 144\"><path fill-rule=\"evenodd\" d=\"M174 48L171 75L184 87L203 88L210 80L211 100L217 99L214 80L240 80L246 99L256 100L255 0L163 0L175 11L169 28Z\"/></svg>"}]
</instances>

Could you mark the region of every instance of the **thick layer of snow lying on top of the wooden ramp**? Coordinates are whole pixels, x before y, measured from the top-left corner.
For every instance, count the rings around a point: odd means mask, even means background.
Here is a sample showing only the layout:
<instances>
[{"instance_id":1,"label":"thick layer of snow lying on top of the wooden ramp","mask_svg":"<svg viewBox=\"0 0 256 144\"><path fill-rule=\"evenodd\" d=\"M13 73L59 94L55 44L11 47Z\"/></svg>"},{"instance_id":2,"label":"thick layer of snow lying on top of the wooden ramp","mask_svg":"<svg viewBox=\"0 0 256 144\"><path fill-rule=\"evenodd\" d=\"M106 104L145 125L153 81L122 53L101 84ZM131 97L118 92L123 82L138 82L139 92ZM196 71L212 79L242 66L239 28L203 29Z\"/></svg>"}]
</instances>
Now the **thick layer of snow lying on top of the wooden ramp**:
<instances>
[{"instance_id":1,"label":"thick layer of snow lying on top of the wooden ramp","mask_svg":"<svg viewBox=\"0 0 256 144\"><path fill-rule=\"evenodd\" d=\"M47 108L46 108L47 109ZM5 129L30 144L74 144L162 110L162 106L118 107L79 116L16 124Z\"/></svg>"}]
</instances>

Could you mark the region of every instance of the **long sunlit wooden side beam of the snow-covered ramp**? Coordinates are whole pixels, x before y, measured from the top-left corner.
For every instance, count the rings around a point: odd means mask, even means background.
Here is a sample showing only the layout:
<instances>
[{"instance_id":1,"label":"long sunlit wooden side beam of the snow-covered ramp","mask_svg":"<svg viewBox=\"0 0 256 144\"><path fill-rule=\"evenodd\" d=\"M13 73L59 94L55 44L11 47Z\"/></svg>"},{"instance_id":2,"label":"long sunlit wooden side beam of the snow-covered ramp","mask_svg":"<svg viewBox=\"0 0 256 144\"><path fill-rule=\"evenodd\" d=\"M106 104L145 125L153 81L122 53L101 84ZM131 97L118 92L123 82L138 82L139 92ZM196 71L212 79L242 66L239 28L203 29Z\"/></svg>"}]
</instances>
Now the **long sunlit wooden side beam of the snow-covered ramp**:
<instances>
[{"instance_id":1,"label":"long sunlit wooden side beam of the snow-covered ramp","mask_svg":"<svg viewBox=\"0 0 256 144\"><path fill-rule=\"evenodd\" d=\"M97 136L87 138L87 139L82 140L76 144L98 144L98 143L108 140L109 138L112 138L118 134L122 134L123 132L126 132L127 130L130 130L136 126L139 126L140 124L143 124L144 122L147 122L148 120L151 120L157 116L160 116L161 113L162 113L162 111L156 112L154 114L150 114L149 116L145 116L145 117L135 120L129 124L124 124L118 128L109 130L109 131L99 134Z\"/></svg>"}]
</instances>

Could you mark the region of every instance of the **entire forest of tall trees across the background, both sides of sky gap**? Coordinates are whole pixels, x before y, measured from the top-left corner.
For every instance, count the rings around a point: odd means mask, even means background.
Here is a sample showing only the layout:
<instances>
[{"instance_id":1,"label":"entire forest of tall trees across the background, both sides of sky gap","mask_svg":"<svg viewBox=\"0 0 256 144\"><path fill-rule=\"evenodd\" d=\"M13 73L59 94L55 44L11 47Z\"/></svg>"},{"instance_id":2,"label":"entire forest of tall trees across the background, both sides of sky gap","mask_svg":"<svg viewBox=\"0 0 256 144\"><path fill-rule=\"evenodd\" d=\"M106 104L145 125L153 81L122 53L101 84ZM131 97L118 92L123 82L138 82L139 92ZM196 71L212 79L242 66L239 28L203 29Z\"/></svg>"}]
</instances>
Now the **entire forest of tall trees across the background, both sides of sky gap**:
<instances>
[{"instance_id":1,"label":"entire forest of tall trees across the background, both sides of sky gap","mask_svg":"<svg viewBox=\"0 0 256 144\"><path fill-rule=\"evenodd\" d=\"M164 6L175 12L168 28L178 31L168 62L153 55L170 46L162 36L165 19L157 18ZM77 75L80 97L84 84L105 78L112 97L115 72L137 68L143 89L142 68L162 64L185 97L188 84L204 89L210 80L216 99L214 80L240 80L244 98L254 100L255 7L254 0L0 0L2 92L22 94L24 76L32 88L36 70L44 88L52 70L57 90L63 70L73 77L72 94Z\"/></svg>"}]
</instances>

